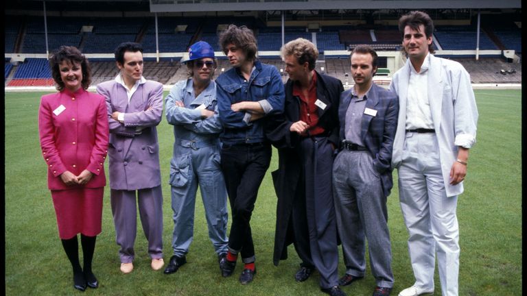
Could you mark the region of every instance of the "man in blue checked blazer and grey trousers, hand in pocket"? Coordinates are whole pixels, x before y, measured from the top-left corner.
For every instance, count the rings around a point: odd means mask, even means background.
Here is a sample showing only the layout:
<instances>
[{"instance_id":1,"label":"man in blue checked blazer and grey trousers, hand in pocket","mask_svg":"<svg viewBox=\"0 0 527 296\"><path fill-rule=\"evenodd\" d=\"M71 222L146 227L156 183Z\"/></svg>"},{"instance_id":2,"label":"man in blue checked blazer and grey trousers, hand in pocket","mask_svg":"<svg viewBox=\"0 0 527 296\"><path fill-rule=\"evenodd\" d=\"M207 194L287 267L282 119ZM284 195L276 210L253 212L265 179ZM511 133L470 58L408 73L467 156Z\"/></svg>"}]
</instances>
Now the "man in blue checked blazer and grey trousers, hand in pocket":
<instances>
[{"instance_id":1,"label":"man in blue checked blazer and grey trousers, hand in pocket","mask_svg":"<svg viewBox=\"0 0 527 296\"><path fill-rule=\"evenodd\" d=\"M375 71L377 53L368 46L355 47L355 86L340 95L341 147L333 163L333 197L346 265L339 285L364 277L367 238L377 285L373 296L386 296L393 288L386 197L393 186L390 164L399 101L373 83Z\"/></svg>"}]
</instances>

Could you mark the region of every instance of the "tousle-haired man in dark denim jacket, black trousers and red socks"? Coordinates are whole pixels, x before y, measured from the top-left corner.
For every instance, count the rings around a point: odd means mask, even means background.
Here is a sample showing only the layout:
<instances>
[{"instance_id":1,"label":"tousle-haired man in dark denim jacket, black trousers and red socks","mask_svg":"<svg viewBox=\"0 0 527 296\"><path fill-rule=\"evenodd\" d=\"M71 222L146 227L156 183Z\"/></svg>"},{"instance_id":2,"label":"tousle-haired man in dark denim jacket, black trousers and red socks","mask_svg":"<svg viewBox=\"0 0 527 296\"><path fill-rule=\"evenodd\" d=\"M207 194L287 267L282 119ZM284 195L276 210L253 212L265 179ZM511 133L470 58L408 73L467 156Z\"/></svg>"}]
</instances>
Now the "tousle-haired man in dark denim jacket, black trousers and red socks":
<instances>
[{"instance_id":1,"label":"tousle-haired man in dark denim jacket, black trousers and red socks","mask_svg":"<svg viewBox=\"0 0 527 296\"><path fill-rule=\"evenodd\" d=\"M239 282L247 284L256 273L250 216L271 160L264 121L269 114L283 111L285 95L277 69L257 60L256 38L250 29L229 25L220 35L220 45L233 65L216 79L218 111L224 126L221 167L233 219L229 251L220 268L224 277L232 275L241 254L245 265Z\"/></svg>"}]
</instances>

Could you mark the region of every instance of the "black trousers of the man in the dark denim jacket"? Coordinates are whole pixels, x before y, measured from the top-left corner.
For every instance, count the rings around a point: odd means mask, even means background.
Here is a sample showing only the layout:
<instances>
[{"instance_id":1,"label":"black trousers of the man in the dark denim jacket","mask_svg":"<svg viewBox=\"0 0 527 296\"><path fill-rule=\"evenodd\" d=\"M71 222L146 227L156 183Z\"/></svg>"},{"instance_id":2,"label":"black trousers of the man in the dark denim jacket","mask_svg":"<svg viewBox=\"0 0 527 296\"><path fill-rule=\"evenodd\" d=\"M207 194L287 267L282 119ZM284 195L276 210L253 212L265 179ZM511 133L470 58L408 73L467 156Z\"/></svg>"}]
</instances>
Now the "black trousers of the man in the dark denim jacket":
<instances>
[{"instance_id":1,"label":"black trousers of the man in the dark denim jacket","mask_svg":"<svg viewBox=\"0 0 527 296\"><path fill-rule=\"evenodd\" d=\"M261 181L271 161L270 143L223 145L222 171L231 204L229 250L240 252L244 263L255 261L250 217Z\"/></svg>"}]
</instances>

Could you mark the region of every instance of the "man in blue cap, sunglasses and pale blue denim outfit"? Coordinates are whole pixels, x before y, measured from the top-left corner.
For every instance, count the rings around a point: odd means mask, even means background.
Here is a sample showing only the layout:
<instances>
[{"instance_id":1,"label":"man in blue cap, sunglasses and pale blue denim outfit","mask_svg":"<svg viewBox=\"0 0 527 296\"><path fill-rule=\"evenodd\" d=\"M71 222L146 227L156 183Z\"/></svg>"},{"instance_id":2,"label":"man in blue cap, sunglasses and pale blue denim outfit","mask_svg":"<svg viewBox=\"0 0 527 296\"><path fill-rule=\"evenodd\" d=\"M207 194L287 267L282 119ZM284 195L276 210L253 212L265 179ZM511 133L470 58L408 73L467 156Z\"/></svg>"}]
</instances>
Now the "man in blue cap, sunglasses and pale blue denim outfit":
<instances>
[{"instance_id":1,"label":"man in blue cap, sunglasses and pale blue denim outfit","mask_svg":"<svg viewBox=\"0 0 527 296\"><path fill-rule=\"evenodd\" d=\"M189 78L176 83L166 97L166 116L174 125L174 154L170 161L170 188L174 210L174 256L164 273L174 273L187 262L194 235L194 207L200 186L209 238L221 260L227 251L227 191L220 168L222 125L218 120L214 50L199 41L189 48Z\"/></svg>"}]
</instances>

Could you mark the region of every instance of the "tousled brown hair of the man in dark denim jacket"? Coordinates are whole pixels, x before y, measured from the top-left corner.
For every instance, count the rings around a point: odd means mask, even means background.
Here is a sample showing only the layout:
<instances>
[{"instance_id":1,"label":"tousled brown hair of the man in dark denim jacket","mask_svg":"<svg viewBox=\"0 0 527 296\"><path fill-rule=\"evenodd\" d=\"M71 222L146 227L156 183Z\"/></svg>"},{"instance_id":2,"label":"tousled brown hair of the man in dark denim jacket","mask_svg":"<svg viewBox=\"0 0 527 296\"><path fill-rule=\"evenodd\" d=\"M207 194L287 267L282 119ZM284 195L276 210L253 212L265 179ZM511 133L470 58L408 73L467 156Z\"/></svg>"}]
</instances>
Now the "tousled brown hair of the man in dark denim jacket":
<instances>
[{"instance_id":1,"label":"tousled brown hair of the man in dark denim jacket","mask_svg":"<svg viewBox=\"0 0 527 296\"><path fill-rule=\"evenodd\" d=\"M227 45L232 43L244 51L247 60L252 61L256 59L258 47L255 34L244 25L241 27L238 27L237 25L229 25L229 27L220 34L218 43L225 54Z\"/></svg>"}]
</instances>

